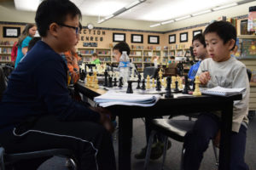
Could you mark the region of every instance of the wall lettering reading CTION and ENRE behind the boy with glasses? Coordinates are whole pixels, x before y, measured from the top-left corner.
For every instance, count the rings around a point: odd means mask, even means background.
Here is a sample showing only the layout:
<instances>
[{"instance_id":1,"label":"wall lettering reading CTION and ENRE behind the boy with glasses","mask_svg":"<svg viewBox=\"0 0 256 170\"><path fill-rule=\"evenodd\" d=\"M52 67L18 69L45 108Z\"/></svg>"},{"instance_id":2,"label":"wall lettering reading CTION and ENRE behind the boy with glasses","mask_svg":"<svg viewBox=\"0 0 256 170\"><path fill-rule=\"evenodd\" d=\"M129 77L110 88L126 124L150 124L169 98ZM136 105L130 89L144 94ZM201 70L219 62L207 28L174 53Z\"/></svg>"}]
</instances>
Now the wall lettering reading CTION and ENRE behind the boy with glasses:
<instances>
[{"instance_id":1,"label":"wall lettering reading CTION and ENRE behind the boy with glasses","mask_svg":"<svg viewBox=\"0 0 256 170\"><path fill-rule=\"evenodd\" d=\"M103 42L106 31L84 29L81 32L80 40L83 47L97 47L97 42Z\"/></svg>"}]
</instances>

